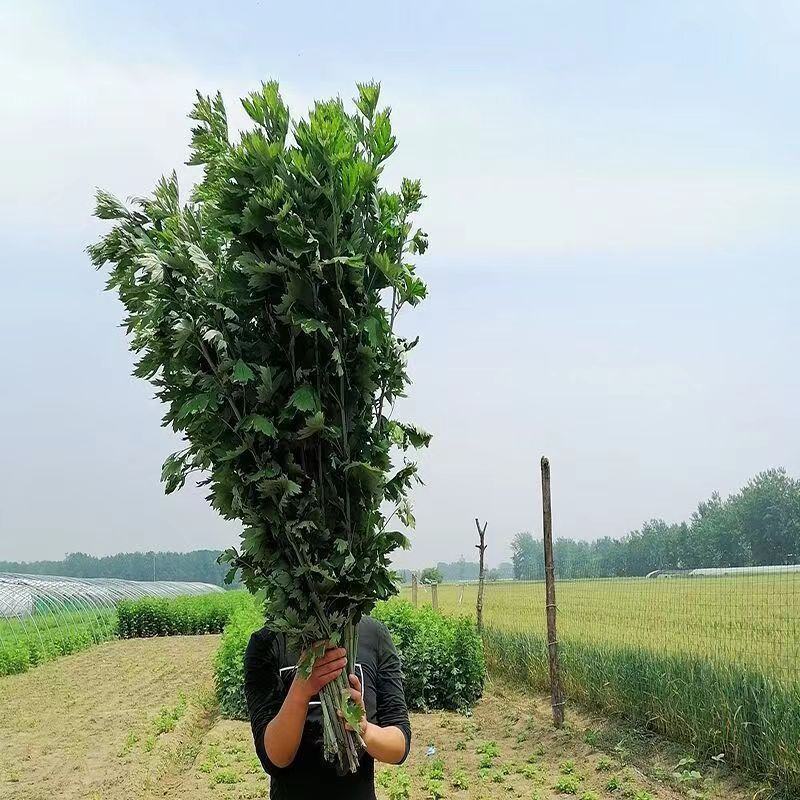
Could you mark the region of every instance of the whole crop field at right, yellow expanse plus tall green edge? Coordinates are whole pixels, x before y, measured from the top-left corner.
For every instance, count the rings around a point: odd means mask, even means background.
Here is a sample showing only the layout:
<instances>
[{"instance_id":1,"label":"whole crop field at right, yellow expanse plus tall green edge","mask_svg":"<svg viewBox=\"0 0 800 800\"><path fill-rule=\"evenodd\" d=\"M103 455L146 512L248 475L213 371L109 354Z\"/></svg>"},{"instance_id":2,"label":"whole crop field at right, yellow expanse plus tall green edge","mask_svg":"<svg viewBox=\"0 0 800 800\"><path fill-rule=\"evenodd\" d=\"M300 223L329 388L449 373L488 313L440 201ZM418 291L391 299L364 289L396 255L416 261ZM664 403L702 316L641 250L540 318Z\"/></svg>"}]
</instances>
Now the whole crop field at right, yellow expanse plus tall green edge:
<instances>
[{"instance_id":1,"label":"whole crop field at right, yellow expanse plus tall green edge","mask_svg":"<svg viewBox=\"0 0 800 800\"><path fill-rule=\"evenodd\" d=\"M476 593L440 586L439 606L474 614ZM800 794L796 576L561 581L557 602L570 700ZM491 669L545 688L543 584L487 584L484 619Z\"/></svg>"}]
</instances>

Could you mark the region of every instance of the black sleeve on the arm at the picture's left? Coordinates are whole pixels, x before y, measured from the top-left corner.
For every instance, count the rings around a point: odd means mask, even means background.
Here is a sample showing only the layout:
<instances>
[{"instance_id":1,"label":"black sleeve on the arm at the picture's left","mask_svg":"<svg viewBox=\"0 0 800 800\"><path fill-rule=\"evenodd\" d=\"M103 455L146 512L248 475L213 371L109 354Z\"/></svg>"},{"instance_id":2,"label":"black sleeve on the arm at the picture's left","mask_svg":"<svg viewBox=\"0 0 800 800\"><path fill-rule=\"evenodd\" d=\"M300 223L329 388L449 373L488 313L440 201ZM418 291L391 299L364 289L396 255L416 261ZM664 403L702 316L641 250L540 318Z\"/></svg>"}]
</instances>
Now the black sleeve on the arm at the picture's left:
<instances>
[{"instance_id":1,"label":"black sleeve on the arm at the picture's left","mask_svg":"<svg viewBox=\"0 0 800 800\"><path fill-rule=\"evenodd\" d=\"M244 694L256 753L264 770L269 775L276 775L281 772L281 768L269 760L264 747L264 731L281 710L283 693L274 640L260 632L250 637L245 651Z\"/></svg>"}]
</instances>

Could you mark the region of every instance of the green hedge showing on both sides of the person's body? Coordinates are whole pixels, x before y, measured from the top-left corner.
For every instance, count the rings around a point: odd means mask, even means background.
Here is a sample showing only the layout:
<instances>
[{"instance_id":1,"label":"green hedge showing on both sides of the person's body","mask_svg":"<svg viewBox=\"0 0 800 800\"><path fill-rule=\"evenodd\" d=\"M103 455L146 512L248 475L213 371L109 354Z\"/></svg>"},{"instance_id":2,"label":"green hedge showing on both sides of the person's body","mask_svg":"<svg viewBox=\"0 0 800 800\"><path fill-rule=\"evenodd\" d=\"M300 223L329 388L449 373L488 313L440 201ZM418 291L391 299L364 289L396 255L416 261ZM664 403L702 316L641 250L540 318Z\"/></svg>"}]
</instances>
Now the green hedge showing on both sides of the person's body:
<instances>
[{"instance_id":1,"label":"green hedge showing on both sides of the person's body","mask_svg":"<svg viewBox=\"0 0 800 800\"><path fill-rule=\"evenodd\" d=\"M372 616L386 625L395 641L409 708L466 710L480 698L486 666L473 622L396 599L379 603ZM250 635L263 624L263 616L251 603L237 609L225 628L215 661L223 716L247 718L244 651Z\"/></svg>"}]
</instances>

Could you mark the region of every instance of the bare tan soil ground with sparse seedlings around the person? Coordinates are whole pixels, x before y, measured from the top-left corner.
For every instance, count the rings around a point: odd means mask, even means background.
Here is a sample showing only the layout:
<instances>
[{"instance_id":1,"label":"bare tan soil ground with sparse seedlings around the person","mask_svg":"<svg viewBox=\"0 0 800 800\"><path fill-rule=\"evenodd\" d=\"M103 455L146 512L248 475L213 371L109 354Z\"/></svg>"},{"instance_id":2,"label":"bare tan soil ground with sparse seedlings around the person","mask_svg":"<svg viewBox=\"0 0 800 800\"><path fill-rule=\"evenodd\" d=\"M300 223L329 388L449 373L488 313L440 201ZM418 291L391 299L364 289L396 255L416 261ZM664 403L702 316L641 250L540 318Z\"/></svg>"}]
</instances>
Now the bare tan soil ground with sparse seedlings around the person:
<instances>
[{"instance_id":1,"label":"bare tan soil ground with sparse seedlings around the person","mask_svg":"<svg viewBox=\"0 0 800 800\"><path fill-rule=\"evenodd\" d=\"M220 720L212 701L218 642L106 642L0 678L0 798L268 796L249 726ZM683 765L676 778L679 747L576 713L556 732L549 713L542 698L495 683L471 717L414 714L409 761L381 769L378 796L549 800L574 786L575 796L591 798L611 796L607 787L618 784L618 796L638 800L745 800L757 789L717 765ZM691 771L699 777L683 775Z\"/></svg>"}]
</instances>

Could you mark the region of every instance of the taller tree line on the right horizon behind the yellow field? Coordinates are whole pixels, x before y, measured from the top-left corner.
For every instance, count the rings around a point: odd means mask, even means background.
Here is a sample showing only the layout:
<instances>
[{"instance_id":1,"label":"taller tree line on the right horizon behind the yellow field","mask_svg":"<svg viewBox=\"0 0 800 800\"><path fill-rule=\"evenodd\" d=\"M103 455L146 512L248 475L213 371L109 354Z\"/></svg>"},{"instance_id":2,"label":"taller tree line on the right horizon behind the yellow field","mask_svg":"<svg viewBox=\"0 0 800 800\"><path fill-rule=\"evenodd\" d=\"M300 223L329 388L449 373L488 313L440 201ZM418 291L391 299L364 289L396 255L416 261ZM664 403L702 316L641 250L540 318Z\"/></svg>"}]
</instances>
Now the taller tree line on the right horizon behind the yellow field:
<instances>
[{"instance_id":1,"label":"taller tree line on the right horizon behind the yellow field","mask_svg":"<svg viewBox=\"0 0 800 800\"><path fill-rule=\"evenodd\" d=\"M768 470L725 499L715 492L686 522L653 519L621 539L556 539L553 547L562 578L800 563L800 480ZM511 550L515 579L544 578L539 537L518 533Z\"/></svg>"}]
</instances>

